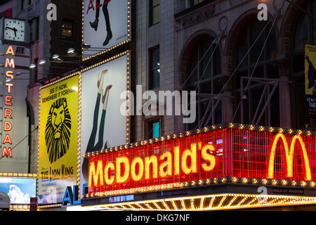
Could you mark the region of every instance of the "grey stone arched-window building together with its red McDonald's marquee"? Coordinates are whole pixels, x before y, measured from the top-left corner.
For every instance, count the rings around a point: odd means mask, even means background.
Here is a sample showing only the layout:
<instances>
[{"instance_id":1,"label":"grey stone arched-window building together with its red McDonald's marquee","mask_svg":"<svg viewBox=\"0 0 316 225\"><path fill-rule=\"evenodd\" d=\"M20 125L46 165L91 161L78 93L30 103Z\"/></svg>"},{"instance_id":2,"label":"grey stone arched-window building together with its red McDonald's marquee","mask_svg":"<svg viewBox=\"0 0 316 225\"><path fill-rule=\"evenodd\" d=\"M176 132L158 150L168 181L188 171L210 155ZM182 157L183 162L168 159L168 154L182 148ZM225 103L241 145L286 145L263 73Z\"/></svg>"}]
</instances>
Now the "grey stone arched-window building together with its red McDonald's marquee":
<instances>
[{"instance_id":1,"label":"grey stone arched-window building together with its red McDonald's marquee","mask_svg":"<svg viewBox=\"0 0 316 225\"><path fill-rule=\"evenodd\" d=\"M261 3L266 21L258 20ZM315 4L136 1L135 84L197 91L197 119L136 115L135 141L84 154L82 206L315 209L304 59L305 45L315 45Z\"/></svg>"}]
</instances>

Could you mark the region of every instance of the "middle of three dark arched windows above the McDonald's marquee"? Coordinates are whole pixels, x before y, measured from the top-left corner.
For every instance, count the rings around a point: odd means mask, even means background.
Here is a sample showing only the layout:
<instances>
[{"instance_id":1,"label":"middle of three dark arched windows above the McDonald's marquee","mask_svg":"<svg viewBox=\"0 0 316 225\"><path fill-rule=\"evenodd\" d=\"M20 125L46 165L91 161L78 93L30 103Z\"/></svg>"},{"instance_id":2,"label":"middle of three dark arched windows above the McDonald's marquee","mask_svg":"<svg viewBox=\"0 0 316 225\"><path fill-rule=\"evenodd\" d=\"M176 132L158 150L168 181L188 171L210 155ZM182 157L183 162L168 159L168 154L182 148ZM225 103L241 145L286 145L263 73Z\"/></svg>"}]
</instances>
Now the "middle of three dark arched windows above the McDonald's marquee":
<instances>
[{"instance_id":1,"label":"middle of three dark arched windows above the McDonald's marquee","mask_svg":"<svg viewBox=\"0 0 316 225\"><path fill-rule=\"evenodd\" d=\"M246 23L235 45L234 122L279 127L277 38L267 23Z\"/></svg>"}]
</instances>

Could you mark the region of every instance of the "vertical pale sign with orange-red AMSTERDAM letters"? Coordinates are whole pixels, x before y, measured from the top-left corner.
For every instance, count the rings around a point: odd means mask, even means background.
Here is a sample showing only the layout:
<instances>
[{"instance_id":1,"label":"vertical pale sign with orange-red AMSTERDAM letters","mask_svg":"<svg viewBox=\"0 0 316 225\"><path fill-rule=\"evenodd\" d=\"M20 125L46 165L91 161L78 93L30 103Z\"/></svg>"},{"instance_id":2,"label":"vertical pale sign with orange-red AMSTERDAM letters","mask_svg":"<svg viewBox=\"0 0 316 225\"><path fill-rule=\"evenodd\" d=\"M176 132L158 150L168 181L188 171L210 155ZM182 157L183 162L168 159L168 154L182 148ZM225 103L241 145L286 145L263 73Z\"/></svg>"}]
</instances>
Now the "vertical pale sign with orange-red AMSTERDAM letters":
<instances>
[{"instance_id":1,"label":"vertical pale sign with orange-red AMSTERDAM letters","mask_svg":"<svg viewBox=\"0 0 316 225\"><path fill-rule=\"evenodd\" d=\"M4 44L0 45L0 53L0 171L27 172L29 143L25 137L29 130L25 99L29 70L25 65L29 65L29 49Z\"/></svg>"}]
</instances>

